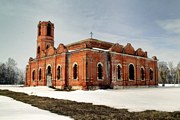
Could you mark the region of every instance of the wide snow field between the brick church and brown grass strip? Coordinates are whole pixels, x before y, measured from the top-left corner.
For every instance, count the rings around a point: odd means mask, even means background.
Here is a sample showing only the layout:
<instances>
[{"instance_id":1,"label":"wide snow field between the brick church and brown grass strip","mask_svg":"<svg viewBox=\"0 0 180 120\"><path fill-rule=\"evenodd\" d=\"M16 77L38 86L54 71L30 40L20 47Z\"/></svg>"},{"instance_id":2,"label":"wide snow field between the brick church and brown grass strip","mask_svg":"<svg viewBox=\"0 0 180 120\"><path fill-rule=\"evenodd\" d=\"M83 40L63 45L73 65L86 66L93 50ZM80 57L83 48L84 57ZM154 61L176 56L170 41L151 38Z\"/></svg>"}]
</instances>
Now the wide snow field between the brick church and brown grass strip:
<instances>
[{"instance_id":1,"label":"wide snow field between the brick church and brown grass strip","mask_svg":"<svg viewBox=\"0 0 180 120\"><path fill-rule=\"evenodd\" d=\"M29 95L89 102L114 108L127 108L129 111L180 111L180 87L178 85L176 87L168 85L168 87L165 88L130 88L95 91L77 90L72 92L54 91L54 89L48 87L0 86L0 89L24 92Z\"/></svg>"}]
</instances>

